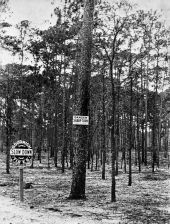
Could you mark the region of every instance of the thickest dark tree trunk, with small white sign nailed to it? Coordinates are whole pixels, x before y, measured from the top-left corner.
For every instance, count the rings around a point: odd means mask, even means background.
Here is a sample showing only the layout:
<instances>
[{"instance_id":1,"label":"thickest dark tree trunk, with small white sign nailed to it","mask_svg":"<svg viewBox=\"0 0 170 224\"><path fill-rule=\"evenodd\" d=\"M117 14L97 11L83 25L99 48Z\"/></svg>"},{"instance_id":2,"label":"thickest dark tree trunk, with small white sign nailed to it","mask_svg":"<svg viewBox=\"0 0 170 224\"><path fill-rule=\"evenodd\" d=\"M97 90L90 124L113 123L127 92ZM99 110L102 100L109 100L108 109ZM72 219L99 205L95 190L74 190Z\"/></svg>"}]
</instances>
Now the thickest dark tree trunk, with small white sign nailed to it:
<instances>
[{"instance_id":1,"label":"thickest dark tree trunk, with small white sign nailed to it","mask_svg":"<svg viewBox=\"0 0 170 224\"><path fill-rule=\"evenodd\" d=\"M89 111L89 84L91 74L92 23L94 0L84 1L84 17L81 30L81 89L80 115L87 116ZM70 199L85 198L86 152L88 147L88 126L78 128L78 147L73 168Z\"/></svg>"}]
</instances>

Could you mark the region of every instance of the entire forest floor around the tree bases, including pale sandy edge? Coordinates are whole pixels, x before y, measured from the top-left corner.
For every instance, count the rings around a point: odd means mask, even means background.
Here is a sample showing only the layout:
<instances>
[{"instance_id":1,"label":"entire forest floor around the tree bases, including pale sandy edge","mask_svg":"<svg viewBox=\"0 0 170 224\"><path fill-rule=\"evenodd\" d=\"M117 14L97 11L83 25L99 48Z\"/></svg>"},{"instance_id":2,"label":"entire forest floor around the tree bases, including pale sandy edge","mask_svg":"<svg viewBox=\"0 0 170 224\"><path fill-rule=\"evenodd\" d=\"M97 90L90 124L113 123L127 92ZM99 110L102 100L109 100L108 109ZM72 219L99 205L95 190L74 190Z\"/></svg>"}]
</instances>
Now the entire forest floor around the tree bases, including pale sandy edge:
<instances>
[{"instance_id":1,"label":"entire forest floor around the tree bases, including pale sandy edge","mask_svg":"<svg viewBox=\"0 0 170 224\"><path fill-rule=\"evenodd\" d=\"M51 162L52 163L52 162ZM170 223L170 170L161 164L151 172L133 166L132 186L128 173L121 169L116 176L116 198L111 198L111 169L106 180L101 169L87 171L86 200L68 200L72 172L51 164L46 158L35 168L24 168L24 182L32 187L19 199L19 167L11 164L6 174L5 154L0 154L0 223L1 224L168 224Z\"/></svg>"}]
</instances>

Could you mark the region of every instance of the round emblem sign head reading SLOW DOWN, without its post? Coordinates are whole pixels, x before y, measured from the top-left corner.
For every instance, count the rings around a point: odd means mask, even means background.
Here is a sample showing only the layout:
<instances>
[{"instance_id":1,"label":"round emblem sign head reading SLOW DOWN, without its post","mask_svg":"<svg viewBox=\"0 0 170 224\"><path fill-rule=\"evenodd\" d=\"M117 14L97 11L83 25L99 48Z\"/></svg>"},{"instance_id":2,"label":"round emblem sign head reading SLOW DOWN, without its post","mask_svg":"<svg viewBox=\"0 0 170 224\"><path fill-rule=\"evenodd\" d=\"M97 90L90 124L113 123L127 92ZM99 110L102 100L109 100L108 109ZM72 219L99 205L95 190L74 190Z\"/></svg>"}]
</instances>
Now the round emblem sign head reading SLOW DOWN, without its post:
<instances>
[{"instance_id":1,"label":"round emblem sign head reading SLOW DOWN, without its post","mask_svg":"<svg viewBox=\"0 0 170 224\"><path fill-rule=\"evenodd\" d=\"M20 140L12 145L10 156L14 162L27 162L32 158L33 150L29 143Z\"/></svg>"}]
</instances>

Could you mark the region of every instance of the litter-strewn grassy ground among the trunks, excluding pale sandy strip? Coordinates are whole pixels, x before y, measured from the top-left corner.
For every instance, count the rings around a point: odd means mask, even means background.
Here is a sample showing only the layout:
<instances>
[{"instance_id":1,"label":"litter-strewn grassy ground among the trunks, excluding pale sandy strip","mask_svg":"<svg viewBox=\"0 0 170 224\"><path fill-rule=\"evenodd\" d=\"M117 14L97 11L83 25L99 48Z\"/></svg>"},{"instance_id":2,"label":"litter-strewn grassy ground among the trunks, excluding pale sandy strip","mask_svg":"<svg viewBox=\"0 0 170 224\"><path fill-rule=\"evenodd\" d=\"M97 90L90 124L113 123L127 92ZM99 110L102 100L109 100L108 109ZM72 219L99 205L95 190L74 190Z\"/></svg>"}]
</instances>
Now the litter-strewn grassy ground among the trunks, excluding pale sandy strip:
<instances>
[{"instance_id":1,"label":"litter-strewn grassy ground among the trunks, excluding pale sandy strip","mask_svg":"<svg viewBox=\"0 0 170 224\"><path fill-rule=\"evenodd\" d=\"M0 156L0 190L19 200L19 169L12 165L10 174L5 173L5 155ZM60 169L47 168L45 160L35 163L35 168L24 169L24 181L31 183L25 189L25 203L30 208L39 208L62 213L71 217L87 217L109 220L113 223L168 224L170 220L168 170L159 169L154 174L142 168L133 173L133 184L127 186L128 174L120 170L116 177L117 202L110 202L110 169L107 167L106 180L101 179L101 171L87 171L86 200L68 200L71 185L71 170L64 174ZM133 167L135 171L136 168Z\"/></svg>"}]
</instances>

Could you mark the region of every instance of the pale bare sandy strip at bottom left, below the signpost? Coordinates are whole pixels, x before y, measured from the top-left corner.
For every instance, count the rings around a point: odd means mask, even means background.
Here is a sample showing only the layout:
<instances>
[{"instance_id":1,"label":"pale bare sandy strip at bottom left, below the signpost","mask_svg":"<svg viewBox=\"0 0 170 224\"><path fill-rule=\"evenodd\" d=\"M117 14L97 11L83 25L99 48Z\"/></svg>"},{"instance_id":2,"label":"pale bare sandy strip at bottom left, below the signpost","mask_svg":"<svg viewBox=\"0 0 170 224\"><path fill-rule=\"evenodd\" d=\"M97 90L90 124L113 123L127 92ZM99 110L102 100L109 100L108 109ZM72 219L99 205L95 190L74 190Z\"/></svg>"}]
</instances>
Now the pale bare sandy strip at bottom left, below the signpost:
<instances>
[{"instance_id":1,"label":"pale bare sandy strip at bottom left, below the signpost","mask_svg":"<svg viewBox=\"0 0 170 224\"><path fill-rule=\"evenodd\" d=\"M1 224L85 224L86 219L70 218L52 212L38 211L26 207L14 199L0 196L0 223ZM88 220L88 224L100 222Z\"/></svg>"}]
</instances>

